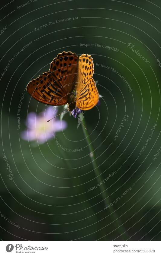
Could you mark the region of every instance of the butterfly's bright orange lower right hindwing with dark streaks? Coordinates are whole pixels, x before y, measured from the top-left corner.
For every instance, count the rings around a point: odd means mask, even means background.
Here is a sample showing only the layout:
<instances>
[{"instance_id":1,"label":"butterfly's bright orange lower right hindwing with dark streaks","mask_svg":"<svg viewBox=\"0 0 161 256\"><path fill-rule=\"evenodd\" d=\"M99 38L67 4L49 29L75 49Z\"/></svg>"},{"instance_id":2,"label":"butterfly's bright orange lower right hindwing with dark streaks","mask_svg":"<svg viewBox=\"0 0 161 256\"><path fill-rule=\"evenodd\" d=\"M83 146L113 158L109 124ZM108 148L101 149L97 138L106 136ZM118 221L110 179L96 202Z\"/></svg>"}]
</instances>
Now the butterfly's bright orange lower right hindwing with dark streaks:
<instances>
[{"instance_id":1,"label":"butterfly's bright orange lower right hindwing with dark streaks","mask_svg":"<svg viewBox=\"0 0 161 256\"><path fill-rule=\"evenodd\" d=\"M81 91L76 98L76 106L82 110L92 109L99 100L99 93L94 79L91 77L85 85L82 85Z\"/></svg>"}]
</instances>

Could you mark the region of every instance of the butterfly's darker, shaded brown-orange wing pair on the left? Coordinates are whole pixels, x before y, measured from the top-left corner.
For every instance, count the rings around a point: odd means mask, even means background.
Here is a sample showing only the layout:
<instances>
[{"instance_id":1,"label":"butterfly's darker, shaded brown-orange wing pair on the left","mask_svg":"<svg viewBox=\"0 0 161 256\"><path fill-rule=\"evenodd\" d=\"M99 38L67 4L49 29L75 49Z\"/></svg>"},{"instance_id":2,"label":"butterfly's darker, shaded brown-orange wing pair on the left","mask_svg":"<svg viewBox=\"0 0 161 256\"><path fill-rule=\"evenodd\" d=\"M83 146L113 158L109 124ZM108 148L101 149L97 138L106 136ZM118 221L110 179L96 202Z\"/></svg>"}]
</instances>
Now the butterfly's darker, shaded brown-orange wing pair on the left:
<instances>
[{"instance_id":1,"label":"butterfly's darker, shaded brown-orange wing pair on the left","mask_svg":"<svg viewBox=\"0 0 161 256\"><path fill-rule=\"evenodd\" d=\"M51 62L49 72L27 84L27 92L44 104L65 105L68 102L67 94L72 90L77 62L75 53L59 53Z\"/></svg>"}]
</instances>

